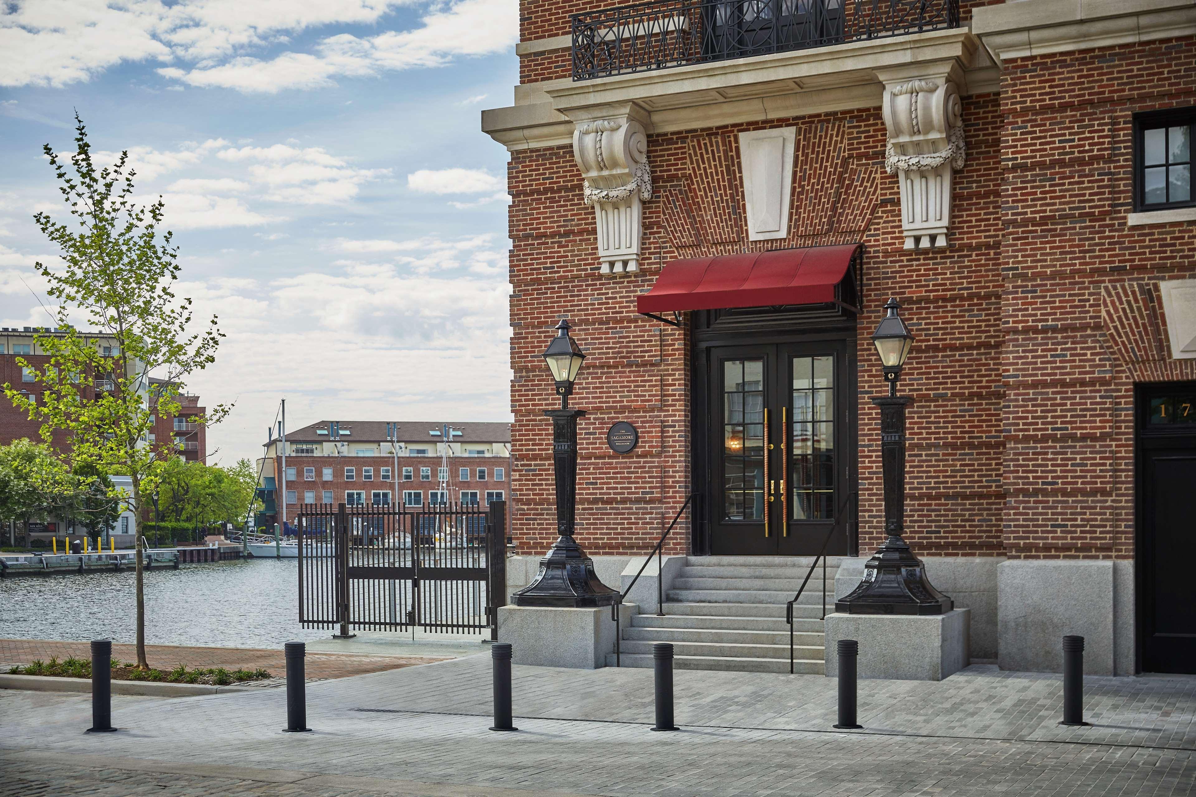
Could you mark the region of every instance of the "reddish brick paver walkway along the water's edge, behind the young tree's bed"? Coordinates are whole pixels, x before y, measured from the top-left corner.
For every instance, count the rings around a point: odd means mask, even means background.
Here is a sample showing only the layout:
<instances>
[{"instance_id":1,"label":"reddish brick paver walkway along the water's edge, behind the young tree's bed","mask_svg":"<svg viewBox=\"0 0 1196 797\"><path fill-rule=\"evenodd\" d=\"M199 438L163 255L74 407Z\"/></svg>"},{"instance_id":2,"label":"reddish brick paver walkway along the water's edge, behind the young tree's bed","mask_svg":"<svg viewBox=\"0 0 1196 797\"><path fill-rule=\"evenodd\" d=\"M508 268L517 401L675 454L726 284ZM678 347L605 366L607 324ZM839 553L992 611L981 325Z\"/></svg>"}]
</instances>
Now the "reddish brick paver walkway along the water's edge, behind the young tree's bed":
<instances>
[{"instance_id":1,"label":"reddish brick paver walkway along the water's edge, behind the young tree's bed","mask_svg":"<svg viewBox=\"0 0 1196 797\"><path fill-rule=\"evenodd\" d=\"M53 639L0 639L0 673L7 673L13 664L28 664L35 658L43 662L50 656L63 660L91 658L91 643L57 642ZM122 662L138 660L136 646L112 643L112 656ZM286 674L286 660L281 650L263 650L256 648L182 648L178 645L146 645L146 658L151 667L173 669L178 664L187 667L224 667L233 670L267 669L271 675L282 678ZM427 664L440 661L427 657L368 656L362 654L323 654L309 652L305 672L309 680L347 678L365 673L378 673L399 669L411 664Z\"/></svg>"}]
</instances>

